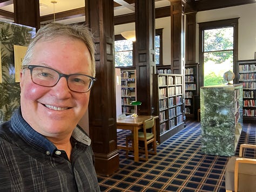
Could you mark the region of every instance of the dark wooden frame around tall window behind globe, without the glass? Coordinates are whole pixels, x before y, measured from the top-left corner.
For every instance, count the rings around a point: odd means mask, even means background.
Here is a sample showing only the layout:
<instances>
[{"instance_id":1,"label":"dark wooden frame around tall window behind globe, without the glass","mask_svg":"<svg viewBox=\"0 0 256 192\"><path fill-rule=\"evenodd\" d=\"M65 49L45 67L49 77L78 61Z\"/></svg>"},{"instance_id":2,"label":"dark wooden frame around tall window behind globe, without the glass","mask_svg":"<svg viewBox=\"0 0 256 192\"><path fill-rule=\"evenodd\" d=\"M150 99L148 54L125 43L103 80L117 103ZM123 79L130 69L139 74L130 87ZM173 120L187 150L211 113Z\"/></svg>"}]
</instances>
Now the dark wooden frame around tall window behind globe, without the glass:
<instances>
[{"instance_id":1,"label":"dark wooden frame around tall window behind globe, without the glass","mask_svg":"<svg viewBox=\"0 0 256 192\"><path fill-rule=\"evenodd\" d=\"M238 60L238 19L223 19L214 20L210 22L203 22L199 24L199 87L204 86L204 36L203 31L208 29L226 28L233 27L233 72L237 74L237 60ZM237 82L237 75L235 76L234 82Z\"/></svg>"}]
</instances>

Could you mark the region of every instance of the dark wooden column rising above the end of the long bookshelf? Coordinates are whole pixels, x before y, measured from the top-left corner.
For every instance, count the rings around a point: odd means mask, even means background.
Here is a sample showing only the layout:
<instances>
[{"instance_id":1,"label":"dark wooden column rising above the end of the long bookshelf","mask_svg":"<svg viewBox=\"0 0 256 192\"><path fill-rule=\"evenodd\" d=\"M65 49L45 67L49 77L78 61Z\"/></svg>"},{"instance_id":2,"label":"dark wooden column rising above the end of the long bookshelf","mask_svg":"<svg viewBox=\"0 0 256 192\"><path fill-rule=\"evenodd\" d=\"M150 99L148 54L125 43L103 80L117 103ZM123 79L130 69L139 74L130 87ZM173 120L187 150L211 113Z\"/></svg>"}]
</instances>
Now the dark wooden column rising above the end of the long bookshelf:
<instances>
[{"instance_id":1,"label":"dark wooden column rising above the end of the long bookshelf","mask_svg":"<svg viewBox=\"0 0 256 192\"><path fill-rule=\"evenodd\" d=\"M184 0L171 2L171 68L173 73L184 70Z\"/></svg>"}]
</instances>

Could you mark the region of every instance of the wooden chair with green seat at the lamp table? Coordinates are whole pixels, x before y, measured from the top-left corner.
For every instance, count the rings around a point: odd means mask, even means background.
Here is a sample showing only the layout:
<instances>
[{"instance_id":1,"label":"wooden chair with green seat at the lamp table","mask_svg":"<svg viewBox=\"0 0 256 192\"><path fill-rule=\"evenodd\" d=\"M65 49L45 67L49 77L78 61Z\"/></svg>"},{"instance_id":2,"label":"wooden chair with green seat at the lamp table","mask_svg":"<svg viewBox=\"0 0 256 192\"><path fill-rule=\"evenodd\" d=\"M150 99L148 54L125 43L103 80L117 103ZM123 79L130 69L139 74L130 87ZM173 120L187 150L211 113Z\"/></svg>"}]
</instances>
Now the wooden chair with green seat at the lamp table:
<instances>
[{"instance_id":1,"label":"wooden chair with green seat at the lamp table","mask_svg":"<svg viewBox=\"0 0 256 192\"><path fill-rule=\"evenodd\" d=\"M140 129L142 130L142 129ZM144 153L145 157L139 157L139 160L149 160L149 154L157 154L157 142L156 142L156 125L154 124L154 119L151 118L143 122L143 132L138 132L138 140L144 142L144 149L140 148L139 153ZM133 134L126 136L126 147L129 146L129 142L132 141L133 148ZM148 150L149 143L152 143L152 149ZM129 157L129 149L126 150L126 157Z\"/></svg>"}]
</instances>

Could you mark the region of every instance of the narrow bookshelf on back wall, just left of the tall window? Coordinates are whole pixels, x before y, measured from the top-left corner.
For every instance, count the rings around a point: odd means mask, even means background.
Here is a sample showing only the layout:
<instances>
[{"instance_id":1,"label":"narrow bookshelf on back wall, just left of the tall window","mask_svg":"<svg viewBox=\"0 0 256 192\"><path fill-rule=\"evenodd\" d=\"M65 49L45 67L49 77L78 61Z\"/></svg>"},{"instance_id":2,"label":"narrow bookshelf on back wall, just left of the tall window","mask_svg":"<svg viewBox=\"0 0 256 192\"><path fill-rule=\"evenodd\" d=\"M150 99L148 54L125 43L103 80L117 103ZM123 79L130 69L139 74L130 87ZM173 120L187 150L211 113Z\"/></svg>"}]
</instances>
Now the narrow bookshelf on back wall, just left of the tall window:
<instances>
[{"instance_id":1,"label":"narrow bookshelf on back wall, just left of the tall window","mask_svg":"<svg viewBox=\"0 0 256 192\"><path fill-rule=\"evenodd\" d=\"M195 118L198 106L198 63L185 66L185 115L186 118Z\"/></svg>"}]
</instances>

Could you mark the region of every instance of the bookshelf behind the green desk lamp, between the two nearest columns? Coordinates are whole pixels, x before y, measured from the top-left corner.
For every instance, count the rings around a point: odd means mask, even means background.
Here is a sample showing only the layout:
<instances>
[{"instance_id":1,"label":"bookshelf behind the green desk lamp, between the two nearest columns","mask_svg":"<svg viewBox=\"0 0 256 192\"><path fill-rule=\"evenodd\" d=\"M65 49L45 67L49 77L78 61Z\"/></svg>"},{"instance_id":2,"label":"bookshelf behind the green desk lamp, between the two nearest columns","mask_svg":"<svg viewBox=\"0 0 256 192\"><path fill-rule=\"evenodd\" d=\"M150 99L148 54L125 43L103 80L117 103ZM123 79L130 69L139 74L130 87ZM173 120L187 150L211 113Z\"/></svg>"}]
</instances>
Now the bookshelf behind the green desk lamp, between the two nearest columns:
<instances>
[{"instance_id":1,"label":"bookshelf behind the green desk lamp, between the two nearest columns","mask_svg":"<svg viewBox=\"0 0 256 192\"><path fill-rule=\"evenodd\" d=\"M136 70L121 71L122 114L137 113L136 106L131 105L131 102L136 100Z\"/></svg>"}]
</instances>

